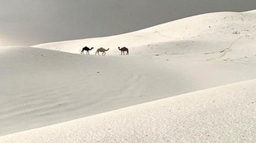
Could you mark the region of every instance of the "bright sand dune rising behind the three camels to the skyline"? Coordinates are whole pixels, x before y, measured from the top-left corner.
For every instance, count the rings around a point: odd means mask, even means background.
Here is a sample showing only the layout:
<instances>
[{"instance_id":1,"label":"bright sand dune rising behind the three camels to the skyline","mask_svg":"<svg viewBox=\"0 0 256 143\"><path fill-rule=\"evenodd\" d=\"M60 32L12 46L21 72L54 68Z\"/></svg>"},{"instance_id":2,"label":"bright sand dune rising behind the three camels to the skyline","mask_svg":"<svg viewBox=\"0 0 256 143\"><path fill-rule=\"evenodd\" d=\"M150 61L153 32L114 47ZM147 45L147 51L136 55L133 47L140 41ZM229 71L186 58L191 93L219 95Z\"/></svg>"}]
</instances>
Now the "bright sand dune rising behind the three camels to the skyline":
<instances>
[{"instance_id":1,"label":"bright sand dune rising behind the three camels to the skyline","mask_svg":"<svg viewBox=\"0 0 256 143\"><path fill-rule=\"evenodd\" d=\"M133 55L210 54L207 58L232 60L255 55L251 53L255 50L255 22L255 11L218 12L195 15L113 37L61 41L34 46L75 54L79 54L84 45L95 48L102 46L110 48L108 52L110 55L119 54L118 46L128 46ZM223 50L225 52L221 52ZM94 54L95 50L92 53ZM226 56L229 54L231 55Z\"/></svg>"}]
</instances>

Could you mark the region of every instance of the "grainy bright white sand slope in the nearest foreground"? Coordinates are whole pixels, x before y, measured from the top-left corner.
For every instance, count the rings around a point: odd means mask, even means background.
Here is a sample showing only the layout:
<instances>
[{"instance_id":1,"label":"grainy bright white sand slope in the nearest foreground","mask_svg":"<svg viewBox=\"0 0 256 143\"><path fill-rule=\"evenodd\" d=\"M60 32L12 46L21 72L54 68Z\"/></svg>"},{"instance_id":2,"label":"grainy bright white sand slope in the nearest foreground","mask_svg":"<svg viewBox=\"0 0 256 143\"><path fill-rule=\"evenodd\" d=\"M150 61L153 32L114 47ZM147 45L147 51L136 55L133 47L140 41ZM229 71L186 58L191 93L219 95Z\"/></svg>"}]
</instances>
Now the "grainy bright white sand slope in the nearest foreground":
<instances>
[{"instance_id":1,"label":"grainy bright white sand slope in the nearest foreground","mask_svg":"<svg viewBox=\"0 0 256 143\"><path fill-rule=\"evenodd\" d=\"M34 142L254 142L256 80L0 137Z\"/></svg>"}]
</instances>

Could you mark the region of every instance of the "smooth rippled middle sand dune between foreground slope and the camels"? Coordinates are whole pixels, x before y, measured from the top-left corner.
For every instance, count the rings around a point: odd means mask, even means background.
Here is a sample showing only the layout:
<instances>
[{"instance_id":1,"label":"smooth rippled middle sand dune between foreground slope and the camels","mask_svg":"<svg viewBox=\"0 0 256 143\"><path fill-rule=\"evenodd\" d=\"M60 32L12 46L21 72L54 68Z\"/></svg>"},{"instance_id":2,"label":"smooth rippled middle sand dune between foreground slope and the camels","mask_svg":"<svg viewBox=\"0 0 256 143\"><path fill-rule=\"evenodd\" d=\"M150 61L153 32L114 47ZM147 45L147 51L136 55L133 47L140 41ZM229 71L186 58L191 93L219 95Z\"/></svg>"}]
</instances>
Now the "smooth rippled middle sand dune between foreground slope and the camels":
<instances>
[{"instance_id":1,"label":"smooth rippled middle sand dune between foreground slope and the camels","mask_svg":"<svg viewBox=\"0 0 256 143\"><path fill-rule=\"evenodd\" d=\"M255 64L0 52L2 135L256 77Z\"/></svg>"}]
</instances>

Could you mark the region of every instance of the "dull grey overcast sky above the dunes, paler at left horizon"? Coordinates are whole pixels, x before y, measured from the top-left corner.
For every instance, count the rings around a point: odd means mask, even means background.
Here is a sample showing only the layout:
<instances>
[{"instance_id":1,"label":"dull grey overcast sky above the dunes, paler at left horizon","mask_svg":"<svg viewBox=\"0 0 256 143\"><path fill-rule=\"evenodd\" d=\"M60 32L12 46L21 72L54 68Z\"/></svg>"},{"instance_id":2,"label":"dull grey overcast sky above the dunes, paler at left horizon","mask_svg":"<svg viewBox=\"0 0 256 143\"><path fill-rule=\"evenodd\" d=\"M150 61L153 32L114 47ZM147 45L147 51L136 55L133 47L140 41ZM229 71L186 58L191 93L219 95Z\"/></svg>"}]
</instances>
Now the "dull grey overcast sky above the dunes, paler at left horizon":
<instances>
[{"instance_id":1,"label":"dull grey overcast sky above the dunes, paler at left horizon","mask_svg":"<svg viewBox=\"0 0 256 143\"><path fill-rule=\"evenodd\" d=\"M0 46L104 37L256 0L0 0Z\"/></svg>"}]
</instances>

